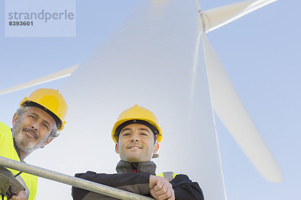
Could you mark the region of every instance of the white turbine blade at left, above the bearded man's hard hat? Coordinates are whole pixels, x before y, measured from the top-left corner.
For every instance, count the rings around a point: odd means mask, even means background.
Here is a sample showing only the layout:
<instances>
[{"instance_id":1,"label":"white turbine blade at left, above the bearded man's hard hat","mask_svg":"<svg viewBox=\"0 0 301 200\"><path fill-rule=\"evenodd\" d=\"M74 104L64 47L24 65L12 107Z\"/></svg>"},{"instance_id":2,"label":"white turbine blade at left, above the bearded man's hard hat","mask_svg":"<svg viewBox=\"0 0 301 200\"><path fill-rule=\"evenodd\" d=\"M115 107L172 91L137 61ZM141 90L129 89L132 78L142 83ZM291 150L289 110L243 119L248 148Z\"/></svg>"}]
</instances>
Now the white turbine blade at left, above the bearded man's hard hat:
<instances>
[{"instance_id":1,"label":"white turbine blade at left, above the bearded man's hard hat","mask_svg":"<svg viewBox=\"0 0 301 200\"><path fill-rule=\"evenodd\" d=\"M32 86L42 84L42 83L45 83L45 82L50 82L50 81L53 81L53 80L57 80L57 79L60 79L60 78L67 77L78 67L78 65L79 64L74 65L74 66L70 66L68 68L65 68L63 70L51 73L49 75L45 75L43 77L28 81L28 82L25 82L25 83L22 83L22 84L0 90L0 95L10 93L10 92L13 92L13 91L18 91L20 89L25 89L25 88L28 88L28 87L32 87Z\"/></svg>"}]
</instances>

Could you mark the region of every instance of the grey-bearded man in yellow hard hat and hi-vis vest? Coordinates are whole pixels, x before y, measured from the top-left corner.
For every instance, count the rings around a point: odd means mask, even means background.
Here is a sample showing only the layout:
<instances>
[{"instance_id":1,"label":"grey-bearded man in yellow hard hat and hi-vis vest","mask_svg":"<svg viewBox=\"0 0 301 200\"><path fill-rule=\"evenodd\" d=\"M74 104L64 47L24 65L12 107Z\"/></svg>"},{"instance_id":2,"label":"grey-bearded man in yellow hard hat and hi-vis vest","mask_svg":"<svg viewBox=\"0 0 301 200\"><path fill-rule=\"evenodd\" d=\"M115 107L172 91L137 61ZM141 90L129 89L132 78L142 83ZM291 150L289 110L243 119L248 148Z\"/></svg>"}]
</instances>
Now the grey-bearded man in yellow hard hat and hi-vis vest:
<instances>
[{"instance_id":1,"label":"grey-bearded man in yellow hard hat and hi-vis vest","mask_svg":"<svg viewBox=\"0 0 301 200\"><path fill-rule=\"evenodd\" d=\"M43 148L64 128L67 104L55 89L41 88L20 102L13 128L0 122L0 156L24 162L35 149ZM0 167L1 199L36 199L38 177Z\"/></svg>"}]
</instances>

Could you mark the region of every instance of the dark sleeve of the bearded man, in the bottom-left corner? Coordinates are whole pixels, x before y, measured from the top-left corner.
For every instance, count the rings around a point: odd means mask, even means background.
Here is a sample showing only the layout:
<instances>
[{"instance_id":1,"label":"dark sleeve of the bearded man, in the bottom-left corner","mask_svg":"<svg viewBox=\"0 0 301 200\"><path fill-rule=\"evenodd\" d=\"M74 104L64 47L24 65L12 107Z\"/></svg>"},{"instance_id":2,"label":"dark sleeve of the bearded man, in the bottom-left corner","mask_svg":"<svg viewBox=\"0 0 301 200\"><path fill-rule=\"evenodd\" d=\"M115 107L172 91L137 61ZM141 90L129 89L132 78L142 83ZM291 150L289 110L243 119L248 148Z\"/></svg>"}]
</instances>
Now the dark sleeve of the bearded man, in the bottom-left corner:
<instances>
[{"instance_id":1,"label":"dark sleeve of the bearded man, in the bottom-left corner","mask_svg":"<svg viewBox=\"0 0 301 200\"><path fill-rule=\"evenodd\" d=\"M11 197L22 189L25 187L15 178L12 171L0 166L0 194Z\"/></svg>"}]
</instances>

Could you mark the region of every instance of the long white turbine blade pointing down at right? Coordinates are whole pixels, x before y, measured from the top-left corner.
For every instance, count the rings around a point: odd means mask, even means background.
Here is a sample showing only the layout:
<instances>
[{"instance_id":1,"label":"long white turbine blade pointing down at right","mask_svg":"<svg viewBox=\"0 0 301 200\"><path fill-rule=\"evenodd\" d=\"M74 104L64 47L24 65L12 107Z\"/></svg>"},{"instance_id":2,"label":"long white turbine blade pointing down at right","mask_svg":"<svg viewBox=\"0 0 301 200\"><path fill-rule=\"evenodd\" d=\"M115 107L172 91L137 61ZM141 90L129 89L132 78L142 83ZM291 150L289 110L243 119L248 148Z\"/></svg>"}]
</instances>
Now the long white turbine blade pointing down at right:
<instances>
[{"instance_id":1,"label":"long white turbine blade pointing down at right","mask_svg":"<svg viewBox=\"0 0 301 200\"><path fill-rule=\"evenodd\" d=\"M205 34L203 45L213 108L262 176L272 182L281 182L281 170L262 140Z\"/></svg>"}]
</instances>

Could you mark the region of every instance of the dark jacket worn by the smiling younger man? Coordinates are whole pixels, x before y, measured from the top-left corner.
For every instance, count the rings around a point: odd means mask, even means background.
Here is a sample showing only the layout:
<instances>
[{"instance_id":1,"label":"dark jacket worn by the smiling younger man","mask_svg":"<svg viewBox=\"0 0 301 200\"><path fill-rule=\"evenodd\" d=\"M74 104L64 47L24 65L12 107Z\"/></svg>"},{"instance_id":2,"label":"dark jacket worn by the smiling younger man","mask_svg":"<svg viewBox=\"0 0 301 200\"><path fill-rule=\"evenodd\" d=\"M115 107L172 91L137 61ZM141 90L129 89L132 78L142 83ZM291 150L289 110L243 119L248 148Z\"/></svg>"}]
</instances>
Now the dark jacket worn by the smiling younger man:
<instances>
[{"instance_id":1,"label":"dark jacket worn by the smiling younger man","mask_svg":"<svg viewBox=\"0 0 301 200\"><path fill-rule=\"evenodd\" d=\"M87 171L85 173L77 173L75 176L152 197L149 193L149 175L155 175L156 164L153 161L129 163L120 160L116 166L116 171L118 173L114 174ZM199 184L192 182L185 174L176 175L170 183L173 185L177 200L204 199ZM77 187L72 187L72 197L74 200L116 199Z\"/></svg>"}]
</instances>

